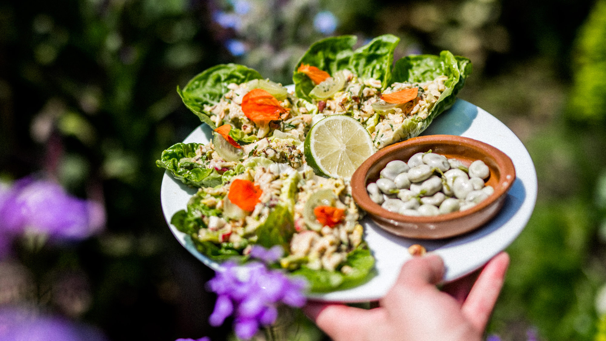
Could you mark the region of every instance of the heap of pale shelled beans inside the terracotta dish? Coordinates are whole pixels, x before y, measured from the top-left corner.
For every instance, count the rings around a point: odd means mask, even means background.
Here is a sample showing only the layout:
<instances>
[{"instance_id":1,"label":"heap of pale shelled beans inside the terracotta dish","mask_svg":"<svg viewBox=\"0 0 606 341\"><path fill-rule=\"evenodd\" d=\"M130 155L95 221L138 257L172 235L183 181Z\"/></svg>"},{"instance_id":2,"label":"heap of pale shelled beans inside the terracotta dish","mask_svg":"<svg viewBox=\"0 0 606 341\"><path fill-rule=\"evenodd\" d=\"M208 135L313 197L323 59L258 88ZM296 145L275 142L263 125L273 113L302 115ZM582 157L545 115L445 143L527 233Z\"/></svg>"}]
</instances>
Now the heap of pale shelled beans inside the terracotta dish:
<instances>
[{"instance_id":1,"label":"heap of pale shelled beans inside the terracotta dish","mask_svg":"<svg viewBox=\"0 0 606 341\"><path fill-rule=\"evenodd\" d=\"M470 209L490 197L485 186L488 166L476 160L466 167L444 155L417 153L408 163L394 160L381 170L381 177L366 187L370 199L404 215L439 215Z\"/></svg>"}]
</instances>

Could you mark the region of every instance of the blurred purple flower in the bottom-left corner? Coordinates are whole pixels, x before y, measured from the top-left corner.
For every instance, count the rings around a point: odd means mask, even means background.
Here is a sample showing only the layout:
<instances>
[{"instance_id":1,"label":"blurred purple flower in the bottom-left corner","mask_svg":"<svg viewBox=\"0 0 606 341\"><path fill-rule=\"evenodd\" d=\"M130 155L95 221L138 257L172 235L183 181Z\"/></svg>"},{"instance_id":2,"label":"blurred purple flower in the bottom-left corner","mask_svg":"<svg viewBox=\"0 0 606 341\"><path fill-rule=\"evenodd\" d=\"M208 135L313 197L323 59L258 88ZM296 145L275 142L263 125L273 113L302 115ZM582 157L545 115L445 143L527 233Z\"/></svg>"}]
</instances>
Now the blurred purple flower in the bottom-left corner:
<instances>
[{"instance_id":1,"label":"blurred purple flower in the bottom-left corner","mask_svg":"<svg viewBox=\"0 0 606 341\"><path fill-rule=\"evenodd\" d=\"M4 307L0 309L0 340L106 341L107 338L90 326L36 311Z\"/></svg>"}]
</instances>

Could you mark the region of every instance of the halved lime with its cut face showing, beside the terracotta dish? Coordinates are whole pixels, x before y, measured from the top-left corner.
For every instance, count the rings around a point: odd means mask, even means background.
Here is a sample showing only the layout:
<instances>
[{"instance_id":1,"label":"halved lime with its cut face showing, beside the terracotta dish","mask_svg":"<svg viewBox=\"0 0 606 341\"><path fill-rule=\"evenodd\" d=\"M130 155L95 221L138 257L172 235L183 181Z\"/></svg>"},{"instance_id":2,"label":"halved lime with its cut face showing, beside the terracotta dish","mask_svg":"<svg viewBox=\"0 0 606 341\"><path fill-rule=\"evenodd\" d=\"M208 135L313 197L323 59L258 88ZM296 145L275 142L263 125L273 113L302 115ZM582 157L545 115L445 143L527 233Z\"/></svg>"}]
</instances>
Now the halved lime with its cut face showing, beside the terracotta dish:
<instances>
[{"instance_id":1,"label":"halved lime with its cut face showing, beside the terracotta dish","mask_svg":"<svg viewBox=\"0 0 606 341\"><path fill-rule=\"evenodd\" d=\"M351 178L374 153L375 145L367 130L350 116L323 118L305 138L305 161L324 177Z\"/></svg>"}]
</instances>

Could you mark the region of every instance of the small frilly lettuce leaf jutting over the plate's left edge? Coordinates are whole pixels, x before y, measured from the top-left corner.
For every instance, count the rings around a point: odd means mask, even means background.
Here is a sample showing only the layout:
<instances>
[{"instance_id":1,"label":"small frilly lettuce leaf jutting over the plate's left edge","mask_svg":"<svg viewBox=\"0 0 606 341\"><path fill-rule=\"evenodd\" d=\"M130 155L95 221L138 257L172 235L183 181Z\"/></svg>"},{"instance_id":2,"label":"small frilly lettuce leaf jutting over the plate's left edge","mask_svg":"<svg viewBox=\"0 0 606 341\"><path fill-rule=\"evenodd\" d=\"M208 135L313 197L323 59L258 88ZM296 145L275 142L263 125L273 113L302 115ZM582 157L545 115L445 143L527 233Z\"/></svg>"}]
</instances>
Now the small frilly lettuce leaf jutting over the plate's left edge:
<instances>
[{"instance_id":1,"label":"small frilly lettuce leaf jutting over the plate's left edge","mask_svg":"<svg viewBox=\"0 0 606 341\"><path fill-rule=\"evenodd\" d=\"M176 143L162 152L156 166L167 169L173 177L192 187L215 187L222 184L222 175L216 169L208 169L196 163L199 143Z\"/></svg>"}]
</instances>

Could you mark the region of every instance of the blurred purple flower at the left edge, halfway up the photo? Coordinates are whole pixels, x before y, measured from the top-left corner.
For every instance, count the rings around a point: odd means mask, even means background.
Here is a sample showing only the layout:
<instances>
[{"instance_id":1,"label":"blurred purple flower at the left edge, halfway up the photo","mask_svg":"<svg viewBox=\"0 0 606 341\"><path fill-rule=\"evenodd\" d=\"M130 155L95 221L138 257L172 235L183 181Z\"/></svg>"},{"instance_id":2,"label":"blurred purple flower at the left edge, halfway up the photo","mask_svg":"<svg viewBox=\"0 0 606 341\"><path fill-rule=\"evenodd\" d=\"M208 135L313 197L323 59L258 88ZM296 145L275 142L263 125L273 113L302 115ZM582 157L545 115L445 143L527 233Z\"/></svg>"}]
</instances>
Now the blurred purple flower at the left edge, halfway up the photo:
<instances>
[{"instance_id":1,"label":"blurred purple flower at the left edge, halfway up the photo","mask_svg":"<svg viewBox=\"0 0 606 341\"><path fill-rule=\"evenodd\" d=\"M100 203L72 197L54 181L26 177L0 191L0 254L10 239L25 233L81 240L104 225Z\"/></svg>"}]
</instances>

